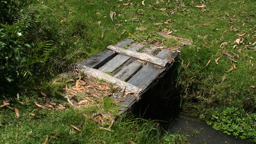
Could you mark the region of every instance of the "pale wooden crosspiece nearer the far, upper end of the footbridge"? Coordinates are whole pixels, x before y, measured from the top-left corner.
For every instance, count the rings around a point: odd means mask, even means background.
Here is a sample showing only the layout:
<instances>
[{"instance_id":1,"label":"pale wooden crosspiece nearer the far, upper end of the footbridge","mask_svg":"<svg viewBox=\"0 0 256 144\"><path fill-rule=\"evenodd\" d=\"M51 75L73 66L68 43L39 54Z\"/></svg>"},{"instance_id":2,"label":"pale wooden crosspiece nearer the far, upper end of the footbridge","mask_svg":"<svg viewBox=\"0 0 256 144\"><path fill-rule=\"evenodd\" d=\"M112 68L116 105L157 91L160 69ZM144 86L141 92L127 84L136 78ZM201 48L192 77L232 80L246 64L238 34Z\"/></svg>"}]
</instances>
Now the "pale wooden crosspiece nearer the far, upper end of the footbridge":
<instances>
[{"instance_id":1,"label":"pale wooden crosspiece nearer the far, upper end of the footbridge","mask_svg":"<svg viewBox=\"0 0 256 144\"><path fill-rule=\"evenodd\" d=\"M121 49L116 46L108 46L108 49L114 50L117 53L121 53L123 55L132 56L133 58L140 59L142 61L150 62L151 64L159 65L160 67L168 66L168 61L160 58L156 58L154 56L147 55L145 53L133 52L131 50Z\"/></svg>"}]
</instances>

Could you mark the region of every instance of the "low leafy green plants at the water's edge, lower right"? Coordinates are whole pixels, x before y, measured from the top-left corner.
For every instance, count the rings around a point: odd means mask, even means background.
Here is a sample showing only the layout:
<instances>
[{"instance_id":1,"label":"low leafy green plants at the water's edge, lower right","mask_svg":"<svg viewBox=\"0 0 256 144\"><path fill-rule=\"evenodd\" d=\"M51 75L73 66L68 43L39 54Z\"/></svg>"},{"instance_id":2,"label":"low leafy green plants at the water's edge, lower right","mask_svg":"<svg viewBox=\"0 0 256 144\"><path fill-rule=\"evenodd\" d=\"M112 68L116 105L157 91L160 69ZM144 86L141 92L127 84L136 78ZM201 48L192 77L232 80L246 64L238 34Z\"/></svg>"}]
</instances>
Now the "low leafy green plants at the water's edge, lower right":
<instances>
[{"instance_id":1,"label":"low leafy green plants at the water's edge, lower right","mask_svg":"<svg viewBox=\"0 0 256 144\"><path fill-rule=\"evenodd\" d=\"M201 115L201 118L204 118L204 115ZM255 113L246 113L243 109L228 107L213 112L211 120L207 124L213 125L216 130L224 130L224 133L256 141Z\"/></svg>"}]
</instances>

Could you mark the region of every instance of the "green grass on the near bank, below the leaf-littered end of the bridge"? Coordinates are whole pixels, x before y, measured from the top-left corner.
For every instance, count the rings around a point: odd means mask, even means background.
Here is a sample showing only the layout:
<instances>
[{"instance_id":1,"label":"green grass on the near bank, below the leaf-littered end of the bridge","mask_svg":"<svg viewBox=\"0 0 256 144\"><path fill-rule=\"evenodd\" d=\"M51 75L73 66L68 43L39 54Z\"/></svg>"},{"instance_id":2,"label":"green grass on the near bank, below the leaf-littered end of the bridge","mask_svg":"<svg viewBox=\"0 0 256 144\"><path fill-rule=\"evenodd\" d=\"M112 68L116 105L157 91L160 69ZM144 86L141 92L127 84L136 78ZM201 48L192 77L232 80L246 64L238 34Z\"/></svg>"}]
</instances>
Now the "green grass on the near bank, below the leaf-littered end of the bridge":
<instances>
[{"instance_id":1,"label":"green grass on the near bank, below the leaf-littered end of the bridge","mask_svg":"<svg viewBox=\"0 0 256 144\"><path fill-rule=\"evenodd\" d=\"M180 135L168 137L166 134L162 139L154 121L120 117L110 128L111 131L107 131L101 127L108 128L109 124L96 124L82 115L85 113L92 116L95 112L102 113L103 110L113 109L113 103L109 103L109 100L104 100L106 102L103 101L97 106L80 109L73 109L66 104L67 110L41 109L35 106L35 101L42 103L35 99L23 100L24 104L15 100L9 101L10 107L19 110L19 119L16 118L14 110L1 108L0 143L44 143L47 137L47 143L130 143L130 140L135 143L157 143L158 139L166 143L175 139L180 143L186 142L186 137ZM30 113L37 116L31 116ZM81 122L84 123L79 127ZM71 125L78 127L81 132Z\"/></svg>"}]
</instances>

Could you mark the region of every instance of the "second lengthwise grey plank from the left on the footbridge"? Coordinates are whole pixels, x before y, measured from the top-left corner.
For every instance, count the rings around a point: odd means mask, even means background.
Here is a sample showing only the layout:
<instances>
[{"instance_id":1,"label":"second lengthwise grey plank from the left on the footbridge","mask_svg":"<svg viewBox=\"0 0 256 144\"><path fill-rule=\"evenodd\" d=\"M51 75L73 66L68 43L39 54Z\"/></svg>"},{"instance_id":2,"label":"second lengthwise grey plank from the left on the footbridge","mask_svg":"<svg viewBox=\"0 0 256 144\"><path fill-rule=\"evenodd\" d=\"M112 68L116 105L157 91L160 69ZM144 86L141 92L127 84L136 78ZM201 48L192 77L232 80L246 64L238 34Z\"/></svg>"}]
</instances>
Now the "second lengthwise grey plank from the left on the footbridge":
<instances>
[{"instance_id":1,"label":"second lengthwise grey plank from the left on the footbridge","mask_svg":"<svg viewBox=\"0 0 256 144\"><path fill-rule=\"evenodd\" d=\"M142 47L144 47L145 44L147 43L144 43L144 44L133 43L131 46L127 47L127 49L132 51L137 51L139 49L142 49ZM106 62L106 64L100 67L99 70L103 72L112 72L118 67L120 67L120 65L126 62L128 59L130 59L130 56L119 54L114 58L112 58L110 61Z\"/></svg>"}]
</instances>

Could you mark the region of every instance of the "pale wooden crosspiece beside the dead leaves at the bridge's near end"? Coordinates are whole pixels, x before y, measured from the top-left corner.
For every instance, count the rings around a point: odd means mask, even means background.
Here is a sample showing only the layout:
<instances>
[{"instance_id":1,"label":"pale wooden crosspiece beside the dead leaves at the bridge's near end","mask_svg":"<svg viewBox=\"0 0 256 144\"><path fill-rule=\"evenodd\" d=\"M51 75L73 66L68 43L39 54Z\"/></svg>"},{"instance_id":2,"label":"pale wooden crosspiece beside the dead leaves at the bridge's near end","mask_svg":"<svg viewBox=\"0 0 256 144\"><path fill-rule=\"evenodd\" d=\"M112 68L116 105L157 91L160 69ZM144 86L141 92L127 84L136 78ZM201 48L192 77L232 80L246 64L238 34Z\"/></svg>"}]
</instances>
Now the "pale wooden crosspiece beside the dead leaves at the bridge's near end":
<instances>
[{"instance_id":1,"label":"pale wooden crosspiece beside the dead leaves at the bridge's near end","mask_svg":"<svg viewBox=\"0 0 256 144\"><path fill-rule=\"evenodd\" d=\"M96 70L94 68L90 68L81 64L76 64L75 68L76 70L81 71L82 73L87 74L88 76L98 79L105 79L109 83L115 83L115 85L120 86L120 88L126 88L126 91L128 92L135 92L136 94L139 94L139 92L142 91L142 89L139 89L138 87L130 83L123 82L122 80L117 79L115 77L109 76L108 74L103 73L100 70Z\"/></svg>"}]
</instances>

